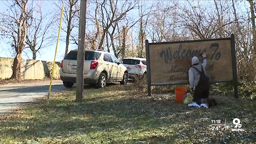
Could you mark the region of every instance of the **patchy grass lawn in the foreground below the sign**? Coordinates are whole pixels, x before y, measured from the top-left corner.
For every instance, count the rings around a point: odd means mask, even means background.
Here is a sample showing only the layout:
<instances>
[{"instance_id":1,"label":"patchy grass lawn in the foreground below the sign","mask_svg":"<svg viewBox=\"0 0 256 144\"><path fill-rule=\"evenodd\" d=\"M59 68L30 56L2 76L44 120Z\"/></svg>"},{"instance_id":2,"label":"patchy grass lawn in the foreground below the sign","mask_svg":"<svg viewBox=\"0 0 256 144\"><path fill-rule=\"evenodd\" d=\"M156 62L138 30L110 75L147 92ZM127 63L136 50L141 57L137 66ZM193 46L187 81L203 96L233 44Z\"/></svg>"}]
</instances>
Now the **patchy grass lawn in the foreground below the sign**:
<instances>
[{"instance_id":1,"label":"patchy grass lawn in the foreground below the sign","mask_svg":"<svg viewBox=\"0 0 256 144\"><path fill-rule=\"evenodd\" d=\"M110 84L85 86L77 103L74 88L0 117L0 143L255 143L256 101L211 97L218 106L198 109L175 103L174 94ZM236 117L243 132L231 132Z\"/></svg>"}]
</instances>

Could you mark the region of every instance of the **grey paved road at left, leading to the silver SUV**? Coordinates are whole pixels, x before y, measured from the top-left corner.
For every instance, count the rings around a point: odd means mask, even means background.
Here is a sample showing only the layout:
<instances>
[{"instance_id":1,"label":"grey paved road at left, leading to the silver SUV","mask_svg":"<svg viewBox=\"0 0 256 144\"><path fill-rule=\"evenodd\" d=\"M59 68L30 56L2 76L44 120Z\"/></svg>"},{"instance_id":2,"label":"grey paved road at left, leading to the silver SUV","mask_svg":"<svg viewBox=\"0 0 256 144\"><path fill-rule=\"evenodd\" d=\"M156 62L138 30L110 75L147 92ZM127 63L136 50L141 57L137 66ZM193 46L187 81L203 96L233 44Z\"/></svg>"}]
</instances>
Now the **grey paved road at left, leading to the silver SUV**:
<instances>
[{"instance_id":1,"label":"grey paved road at left, leading to the silver SUV","mask_svg":"<svg viewBox=\"0 0 256 144\"><path fill-rule=\"evenodd\" d=\"M7 84L0 86L0 116L10 113L20 105L34 102L48 94L50 81ZM74 86L73 86L74 87ZM53 81L51 92L71 90L63 86L62 81Z\"/></svg>"}]
</instances>

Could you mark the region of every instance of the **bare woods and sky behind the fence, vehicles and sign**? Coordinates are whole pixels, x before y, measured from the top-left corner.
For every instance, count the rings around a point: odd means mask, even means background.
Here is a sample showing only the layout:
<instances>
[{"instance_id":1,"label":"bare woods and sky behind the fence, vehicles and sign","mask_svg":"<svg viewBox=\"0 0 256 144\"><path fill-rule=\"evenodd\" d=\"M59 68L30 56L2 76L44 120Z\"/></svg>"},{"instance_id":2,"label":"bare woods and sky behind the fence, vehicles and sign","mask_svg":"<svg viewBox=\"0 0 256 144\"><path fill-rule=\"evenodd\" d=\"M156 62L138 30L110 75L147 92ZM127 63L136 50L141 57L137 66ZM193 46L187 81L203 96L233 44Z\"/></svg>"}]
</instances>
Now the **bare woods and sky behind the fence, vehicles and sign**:
<instances>
[{"instance_id":1,"label":"bare woods and sky behind the fence, vehicles and sign","mask_svg":"<svg viewBox=\"0 0 256 144\"><path fill-rule=\"evenodd\" d=\"M0 35L15 57L12 78L21 78L22 55L53 45L65 4L63 55L77 49L80 1L5 1ZM45 4L47 3L47 5ZM255 1L87 1L86 49L105 49L117 58L145 57L145 41L173 42L225 38L235 34L239 80L256 72ZM6 40L7 39L7 40ZM51 50L50 52L54 52Z\"/></svg>"}]
</instances>

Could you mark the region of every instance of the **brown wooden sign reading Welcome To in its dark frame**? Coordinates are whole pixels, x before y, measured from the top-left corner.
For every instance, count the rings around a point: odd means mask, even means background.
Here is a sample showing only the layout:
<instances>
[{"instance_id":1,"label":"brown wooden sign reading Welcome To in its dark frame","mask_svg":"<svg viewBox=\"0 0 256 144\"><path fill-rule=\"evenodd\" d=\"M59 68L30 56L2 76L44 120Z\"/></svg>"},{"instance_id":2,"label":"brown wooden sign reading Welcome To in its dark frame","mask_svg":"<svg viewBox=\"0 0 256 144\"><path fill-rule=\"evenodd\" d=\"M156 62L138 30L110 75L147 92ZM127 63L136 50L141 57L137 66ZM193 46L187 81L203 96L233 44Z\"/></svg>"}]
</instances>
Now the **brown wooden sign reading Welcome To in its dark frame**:
<instances>
[{"instance_id":1,"label":"brown wooden sign reading Welcome To in its dark frame","mask_svg":"<svg viewBox=\"0 0 256 144\"><path fill-rule=\"evenodd\" d=\"M148 43L146 41L148 90L151 85L189 84L191 58L207 53L206 74L212 83L237 84L235 41L230 38ZM237 86L236 86L237 87ZM148 93L149 94L149 93ZM151 89L150 94L151 95Z\"/></svg>"}]
</instances>

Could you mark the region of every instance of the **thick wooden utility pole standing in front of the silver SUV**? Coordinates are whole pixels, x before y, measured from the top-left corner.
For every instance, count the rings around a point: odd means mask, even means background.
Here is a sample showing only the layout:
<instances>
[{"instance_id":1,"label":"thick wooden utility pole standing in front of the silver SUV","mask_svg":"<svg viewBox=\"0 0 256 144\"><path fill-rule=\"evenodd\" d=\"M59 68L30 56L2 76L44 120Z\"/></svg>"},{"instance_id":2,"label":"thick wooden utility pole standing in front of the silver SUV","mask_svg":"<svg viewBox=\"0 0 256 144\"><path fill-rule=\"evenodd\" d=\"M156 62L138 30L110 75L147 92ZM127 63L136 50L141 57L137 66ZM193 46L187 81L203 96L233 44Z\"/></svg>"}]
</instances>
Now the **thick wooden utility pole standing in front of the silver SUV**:
<instances>
[{"instance_id":1,"label":"thick wooden utility pole standing in front of the silver SUV","mask_svg":"<svg viewBox=\"0 0 256 144\"><path fill-rule=\"evenodd\" d=\"M77 51L77 72L76 72L76 102L83 101L84 91L84 50L85 50L85 25L86 25L86 4L87 0L80 1L80 18L78 33Z\"/></svg>"}]
</instances>

